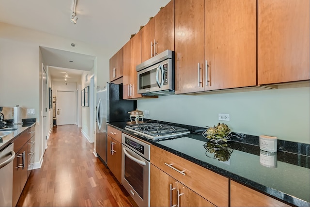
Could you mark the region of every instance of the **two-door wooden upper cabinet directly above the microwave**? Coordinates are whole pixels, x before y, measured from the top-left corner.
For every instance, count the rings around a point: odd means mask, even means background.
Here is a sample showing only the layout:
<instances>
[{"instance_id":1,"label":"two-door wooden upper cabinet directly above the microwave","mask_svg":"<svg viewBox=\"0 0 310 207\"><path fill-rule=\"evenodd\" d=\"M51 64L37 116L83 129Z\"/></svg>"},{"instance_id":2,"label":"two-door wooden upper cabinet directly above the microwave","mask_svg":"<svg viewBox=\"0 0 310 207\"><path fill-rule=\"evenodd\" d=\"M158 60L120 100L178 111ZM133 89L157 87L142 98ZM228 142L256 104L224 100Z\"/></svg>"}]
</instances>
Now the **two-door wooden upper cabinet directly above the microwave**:
<instances>
[{"instance_id":1,"label":"two-door wooden upper cabinet directly above the microwave","mask_svg":"<svg viewBox=\"0 0 310 207\"><path fill-rule=\"evenodd\" d=\"M174 50L174 0L141 29L142 62L166 49Z\"/></svg>"}]
</instances>

